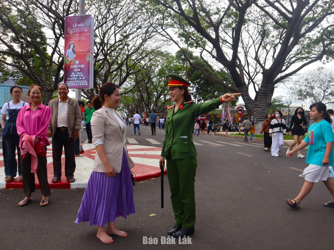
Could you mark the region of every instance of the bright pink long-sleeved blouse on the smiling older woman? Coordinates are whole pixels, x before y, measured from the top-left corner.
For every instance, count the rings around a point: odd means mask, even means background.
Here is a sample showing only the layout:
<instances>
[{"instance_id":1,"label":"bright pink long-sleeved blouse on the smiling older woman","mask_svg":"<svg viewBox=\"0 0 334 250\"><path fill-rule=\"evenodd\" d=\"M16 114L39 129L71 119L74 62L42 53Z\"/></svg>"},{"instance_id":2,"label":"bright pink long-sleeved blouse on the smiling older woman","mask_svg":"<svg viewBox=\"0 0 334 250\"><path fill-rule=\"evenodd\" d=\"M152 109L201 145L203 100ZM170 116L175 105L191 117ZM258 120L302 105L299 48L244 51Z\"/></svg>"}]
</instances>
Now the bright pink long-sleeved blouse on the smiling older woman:
<instances>
[{"instance_id":1,"label":"bright pink long-sleeved blouse on the smiling older woman","mask_svg":"<svg viewBox=\"0 0 334 250\"><path fill-rule=\"evenodd\" d=\"M34 112L30 104L31 102L28 106L21 108L17 115L16 128L20 136L19 147L21 147L22 137L25 134L40 137L42 145L48 146L50 142L46 134L51 118L51 108L40 103Z\"/></svg>"}]
</instances>

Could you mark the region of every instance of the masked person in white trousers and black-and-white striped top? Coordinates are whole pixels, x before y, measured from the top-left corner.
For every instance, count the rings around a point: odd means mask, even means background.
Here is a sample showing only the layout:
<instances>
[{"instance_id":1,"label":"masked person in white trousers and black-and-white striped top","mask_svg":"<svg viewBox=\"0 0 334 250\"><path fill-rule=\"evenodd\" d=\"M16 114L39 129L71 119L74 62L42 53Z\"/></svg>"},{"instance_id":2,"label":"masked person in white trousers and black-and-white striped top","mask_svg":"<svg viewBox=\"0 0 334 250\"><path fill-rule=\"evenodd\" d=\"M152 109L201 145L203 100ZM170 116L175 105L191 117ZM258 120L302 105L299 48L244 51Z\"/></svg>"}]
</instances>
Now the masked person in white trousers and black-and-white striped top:
<instances>
[{"instance_id":1,"label":"masked person in white trousers and black-and-white striped top","mask_svg":"<svg viewBox=\"0 0 334 250\"><path fill-rule=\"evenodd\" d=\"M272 156L278 157L278 152L284 145L284 137L286 134L286 123L282 118L283 114L280 110L275 111L275 118L272 120L269 129L269 136L273 139Z\"/></svg>"}]
</instances>

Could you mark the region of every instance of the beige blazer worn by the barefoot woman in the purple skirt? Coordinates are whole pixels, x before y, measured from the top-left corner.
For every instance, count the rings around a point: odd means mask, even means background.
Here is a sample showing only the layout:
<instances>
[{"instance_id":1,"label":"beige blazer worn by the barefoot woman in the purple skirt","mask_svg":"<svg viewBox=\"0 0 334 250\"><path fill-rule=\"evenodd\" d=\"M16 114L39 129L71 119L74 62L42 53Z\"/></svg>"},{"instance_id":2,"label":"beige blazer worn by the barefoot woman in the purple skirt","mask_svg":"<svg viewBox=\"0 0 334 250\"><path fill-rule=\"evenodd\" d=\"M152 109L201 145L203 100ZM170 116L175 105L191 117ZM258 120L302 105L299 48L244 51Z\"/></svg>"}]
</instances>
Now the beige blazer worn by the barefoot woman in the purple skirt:
<instances>
[{"instance_id":1,"label":"beige blazer worn by the barefoot woman in the purple skirt","mask_svg":"<svg viewBox=\"0 0 334 250\"><path fill-rule=\"evenodd\" d=\"M120 113L116 110L115 112L121 118L122 122L124 122ZM127 147L125 146L125 133L127 126L125 126L124 132L122 132L121 124L104 106L93 113L91 126L93 143L98 139L104 140L106 155L110 165L113 166L115 173L121 172L123 149L125 149L127 154L130 169L135 166L128 154ZM97 153L95 155L93 171L105 173L104 166Z\"/></svg>"}]
</instances>

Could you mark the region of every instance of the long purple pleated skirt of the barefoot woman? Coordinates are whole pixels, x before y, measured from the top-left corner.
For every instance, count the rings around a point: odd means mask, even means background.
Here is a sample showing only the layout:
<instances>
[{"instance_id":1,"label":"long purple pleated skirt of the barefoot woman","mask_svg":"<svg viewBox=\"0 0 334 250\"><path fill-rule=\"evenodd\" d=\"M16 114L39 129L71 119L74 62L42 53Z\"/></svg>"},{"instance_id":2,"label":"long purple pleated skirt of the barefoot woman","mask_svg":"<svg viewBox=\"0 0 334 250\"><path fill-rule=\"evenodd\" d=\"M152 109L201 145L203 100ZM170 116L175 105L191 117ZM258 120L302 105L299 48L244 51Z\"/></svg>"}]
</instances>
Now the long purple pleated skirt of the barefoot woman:
<instances>
[{"instance_id":1,"label":"long purple pleated skirt of the barefoot woman","mask_svg":"<svg viewBox=\"0 0 334 250\"><path fill-rule=\"evenodd\" d=\"M108 222L114 222L116 217L126 219L135 212L130 167L123 149L122 169L115 177L92 172L75 223L89 221L90 226L103 227Z\"/></svg>"}]
</instances>

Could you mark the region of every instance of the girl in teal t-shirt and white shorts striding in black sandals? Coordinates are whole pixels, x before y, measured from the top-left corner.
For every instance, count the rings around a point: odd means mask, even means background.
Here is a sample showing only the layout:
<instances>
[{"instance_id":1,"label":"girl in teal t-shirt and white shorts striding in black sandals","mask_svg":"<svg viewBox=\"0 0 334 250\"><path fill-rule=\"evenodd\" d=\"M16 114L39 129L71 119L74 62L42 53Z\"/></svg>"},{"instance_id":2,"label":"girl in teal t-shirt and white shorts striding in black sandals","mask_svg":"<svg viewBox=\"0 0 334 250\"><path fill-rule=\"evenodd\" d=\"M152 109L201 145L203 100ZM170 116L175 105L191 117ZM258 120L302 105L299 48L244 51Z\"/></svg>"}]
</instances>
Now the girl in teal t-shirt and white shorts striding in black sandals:
<instances>
[{"instance_id":1,"label":"girl in teal t-shirt and white shorts striding in black sandals","mask_svg":"<svg viewBox=\"0 0 334 250\"><path fill-rule=\"evenodd\" d=\"M326 105L317 102L310 106L310 118L315 122L309 127L304 141L295 149L287 153L287 157L309 146L307 151L306 163L308 167L300 177L304 177L304 185L298 196L293 200L287 200L286 203L294 208L299 208L300 202L311 192L314 182L323 181L334 199L334 181L330 178L328 165L333 164L333 142L334 134L332 131L332 120L326 112ZM333 207L334 202L330 201L324 204L325 207Z\"/></svg>"}]
</instances>

